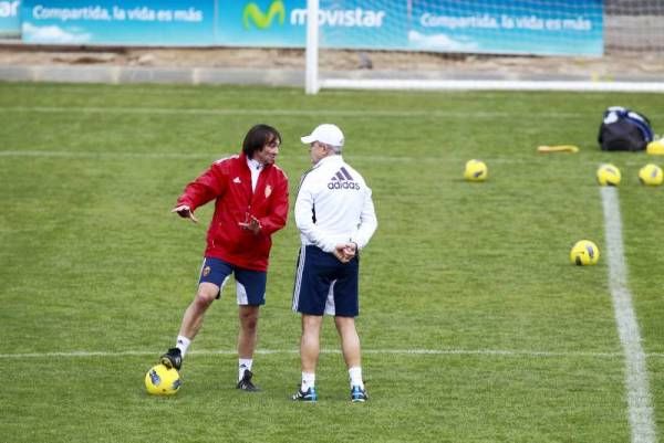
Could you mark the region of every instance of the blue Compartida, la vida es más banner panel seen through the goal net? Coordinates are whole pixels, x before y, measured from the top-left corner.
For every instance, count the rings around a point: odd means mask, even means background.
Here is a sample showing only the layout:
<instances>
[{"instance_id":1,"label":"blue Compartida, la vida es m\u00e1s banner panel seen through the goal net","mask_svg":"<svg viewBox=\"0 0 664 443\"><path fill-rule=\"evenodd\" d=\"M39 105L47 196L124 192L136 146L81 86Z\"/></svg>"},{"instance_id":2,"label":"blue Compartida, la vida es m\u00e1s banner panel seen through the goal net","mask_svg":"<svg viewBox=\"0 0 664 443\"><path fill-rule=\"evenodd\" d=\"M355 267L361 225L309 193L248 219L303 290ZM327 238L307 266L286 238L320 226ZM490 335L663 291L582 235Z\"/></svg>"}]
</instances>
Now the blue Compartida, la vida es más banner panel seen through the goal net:
<instances>
[{"instance_id":1,"label":"blue Compartida, la vida es m\u00e1s banner panel seen through the goal net","mask_svg":"<svg viewBox=\"0 0 664 443\"><path fill-rule=\"evenodd\" d=\"M463 7L461 7L463 6ZM603 1L412 1L408 48L444 52L601 55Z\"/></svg>"}]
</instances>

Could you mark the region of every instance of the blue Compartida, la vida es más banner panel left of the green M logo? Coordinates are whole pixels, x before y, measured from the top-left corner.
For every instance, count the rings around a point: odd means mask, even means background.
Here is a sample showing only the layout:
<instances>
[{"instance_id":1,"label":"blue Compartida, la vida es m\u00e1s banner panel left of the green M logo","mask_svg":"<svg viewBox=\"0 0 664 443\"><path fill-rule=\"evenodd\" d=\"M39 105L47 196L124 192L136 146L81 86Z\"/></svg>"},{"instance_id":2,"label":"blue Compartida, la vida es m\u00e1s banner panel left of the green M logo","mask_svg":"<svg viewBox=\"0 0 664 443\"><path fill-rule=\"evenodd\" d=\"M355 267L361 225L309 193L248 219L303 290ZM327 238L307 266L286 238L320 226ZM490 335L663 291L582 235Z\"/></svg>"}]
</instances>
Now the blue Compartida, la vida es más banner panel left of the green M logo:
<instances>
[{"instance_id":1,"label":"blue Compartida, la vida es m\u00e1s banner panel left of the green M logo","mask_svg":"<svg viewBox=\"0 0 664 443\"><path fill-rule=\"evenodd\" d=\"M23 0L27 43L205 46L216 43L214 1Z\"/></svg>"}]
</instances>

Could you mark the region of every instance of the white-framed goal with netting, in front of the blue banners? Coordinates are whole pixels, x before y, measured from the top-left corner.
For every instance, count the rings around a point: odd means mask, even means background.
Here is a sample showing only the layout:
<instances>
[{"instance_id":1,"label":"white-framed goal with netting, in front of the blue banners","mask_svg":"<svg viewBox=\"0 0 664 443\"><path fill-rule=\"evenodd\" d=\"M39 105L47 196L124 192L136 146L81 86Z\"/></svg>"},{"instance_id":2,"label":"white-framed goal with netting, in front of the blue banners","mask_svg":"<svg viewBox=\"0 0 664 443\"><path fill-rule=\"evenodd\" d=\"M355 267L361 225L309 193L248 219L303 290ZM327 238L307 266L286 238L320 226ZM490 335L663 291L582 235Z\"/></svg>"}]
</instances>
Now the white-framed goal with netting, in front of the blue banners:
<instances>
[{"instance_id":1,"label":"white-framed goal with netting, in front of the blue banners","mask_svg":"<svg viewBox=\"0 0 664 443\"><path fill-rule=\"evenodd\" d=\"M307 92L664 92L664 1L309 0Z\"/></svg>"}]
</instances>

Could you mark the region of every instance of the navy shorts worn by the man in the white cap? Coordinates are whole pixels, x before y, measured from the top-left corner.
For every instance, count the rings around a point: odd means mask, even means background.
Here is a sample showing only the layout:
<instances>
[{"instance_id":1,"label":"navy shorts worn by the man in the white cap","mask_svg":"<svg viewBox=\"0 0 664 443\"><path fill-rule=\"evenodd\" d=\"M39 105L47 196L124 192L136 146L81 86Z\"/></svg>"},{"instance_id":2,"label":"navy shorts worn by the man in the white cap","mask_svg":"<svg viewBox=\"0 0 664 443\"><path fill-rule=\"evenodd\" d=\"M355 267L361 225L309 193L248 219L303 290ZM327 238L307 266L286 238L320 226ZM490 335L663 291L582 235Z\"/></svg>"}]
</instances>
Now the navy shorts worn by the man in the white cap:
<instances>
[{"instance_id":1,"label":"navy shorts worn by the man in the white cap","mask_svg":"<svg viewBox=\"0 0 664 443\"><path fill-rule=\"evenodd\" d=\"M309 315L356 317L360 261L341 263L318 246L300 249L293 288L293 310Z\"/></svg>"}]
</instances>

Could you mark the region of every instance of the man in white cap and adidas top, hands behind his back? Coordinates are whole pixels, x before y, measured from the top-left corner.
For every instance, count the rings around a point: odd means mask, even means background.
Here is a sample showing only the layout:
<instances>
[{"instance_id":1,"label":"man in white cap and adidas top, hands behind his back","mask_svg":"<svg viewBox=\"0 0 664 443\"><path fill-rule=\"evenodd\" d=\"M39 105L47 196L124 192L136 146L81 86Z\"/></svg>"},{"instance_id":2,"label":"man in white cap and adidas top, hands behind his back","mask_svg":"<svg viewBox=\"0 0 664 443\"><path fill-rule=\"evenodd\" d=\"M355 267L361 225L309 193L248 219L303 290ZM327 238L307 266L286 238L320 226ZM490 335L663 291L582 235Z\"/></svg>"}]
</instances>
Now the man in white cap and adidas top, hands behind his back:
<instances>
[{"instance_id":1,"label":"man in white cap and adidas top, hands behind his back","mask_svg":"<svg viewBox=\"0 0 664 443\"><path fill-rule=\"evenodd\" d=\"M318 126L301 138L310 146L313 167L304 173L295 200L295 224L302 246L293 289L293 310L302 314L302 383L297 401L317 401L315 367L323 315L333 315L351 379L351 401L369 399L362 379L359 314L359 253L376 230L371 189L343 160L343 133Z\"/></svg>"}]
</instances>

